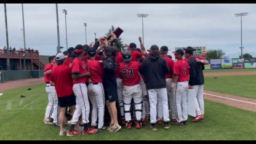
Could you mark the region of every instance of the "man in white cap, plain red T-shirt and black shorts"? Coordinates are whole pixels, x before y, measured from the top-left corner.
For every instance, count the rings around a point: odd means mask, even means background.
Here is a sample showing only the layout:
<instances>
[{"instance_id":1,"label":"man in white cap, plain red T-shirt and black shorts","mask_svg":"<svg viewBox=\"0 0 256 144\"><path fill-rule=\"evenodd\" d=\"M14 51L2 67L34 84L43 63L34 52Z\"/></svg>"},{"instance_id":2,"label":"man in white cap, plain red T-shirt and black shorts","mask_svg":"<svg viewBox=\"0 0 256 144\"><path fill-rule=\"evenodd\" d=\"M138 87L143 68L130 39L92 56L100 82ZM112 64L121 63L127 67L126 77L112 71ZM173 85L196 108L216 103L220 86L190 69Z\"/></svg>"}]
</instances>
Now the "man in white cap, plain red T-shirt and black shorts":
<instances>
[{"instance_id":1,"label":"man in white cap, plain red T-shirt and black shorts","mask_svg":"<svg viewBox=\"0 0 256 144\"><path fill-rule=\"evenodd\" d=\"M65 55L59 53L56 55L56 65L52 68L50 76L50 86L54 86L57 97L58 106L60 106L60 113L58 120L60 123L60 134L65 135L66 130L63 128L65 121L66 108L70 106L71 114L74 113L76 105L76 96L73 93L73 79L71 77L71 68L65 64Z\"/></svg>"}]
</instances>

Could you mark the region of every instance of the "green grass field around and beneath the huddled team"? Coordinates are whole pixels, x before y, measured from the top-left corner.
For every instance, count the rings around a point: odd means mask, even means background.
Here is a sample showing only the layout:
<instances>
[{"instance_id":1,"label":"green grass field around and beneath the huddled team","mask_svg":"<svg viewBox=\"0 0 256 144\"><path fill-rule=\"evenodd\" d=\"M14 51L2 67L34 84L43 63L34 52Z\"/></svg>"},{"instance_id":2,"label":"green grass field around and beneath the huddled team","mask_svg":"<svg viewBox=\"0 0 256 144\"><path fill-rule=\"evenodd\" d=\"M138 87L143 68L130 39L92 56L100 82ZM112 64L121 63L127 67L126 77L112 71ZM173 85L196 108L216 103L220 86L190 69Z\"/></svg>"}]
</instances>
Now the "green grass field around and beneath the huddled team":
<instances>
[{"instance_id":1,"label":"green grass field around and beneath the huddled team","mask_svg":"<svg viewBox=\"0 0 256 144\"><path fill-rule=\"evenodd\" d=\"M255 98L254 80L253 76L206 77L205 89L230 94L235 90L236 95ZM187 126L172 125L166 130L163 125L158 125L158 130L151 130L148 121L142 129L122 127L115 133L103 131L95 135L61 137L58 127L43 122L47 105L44 88L42 83L3 91L0 126L4 132L1 132L0 140L256 140L255 112L209 100L204 100L205 119L190 122L192 118L189 116ZM20 98L20 95L26 97Z\"/></svg>"}]
</instances>

